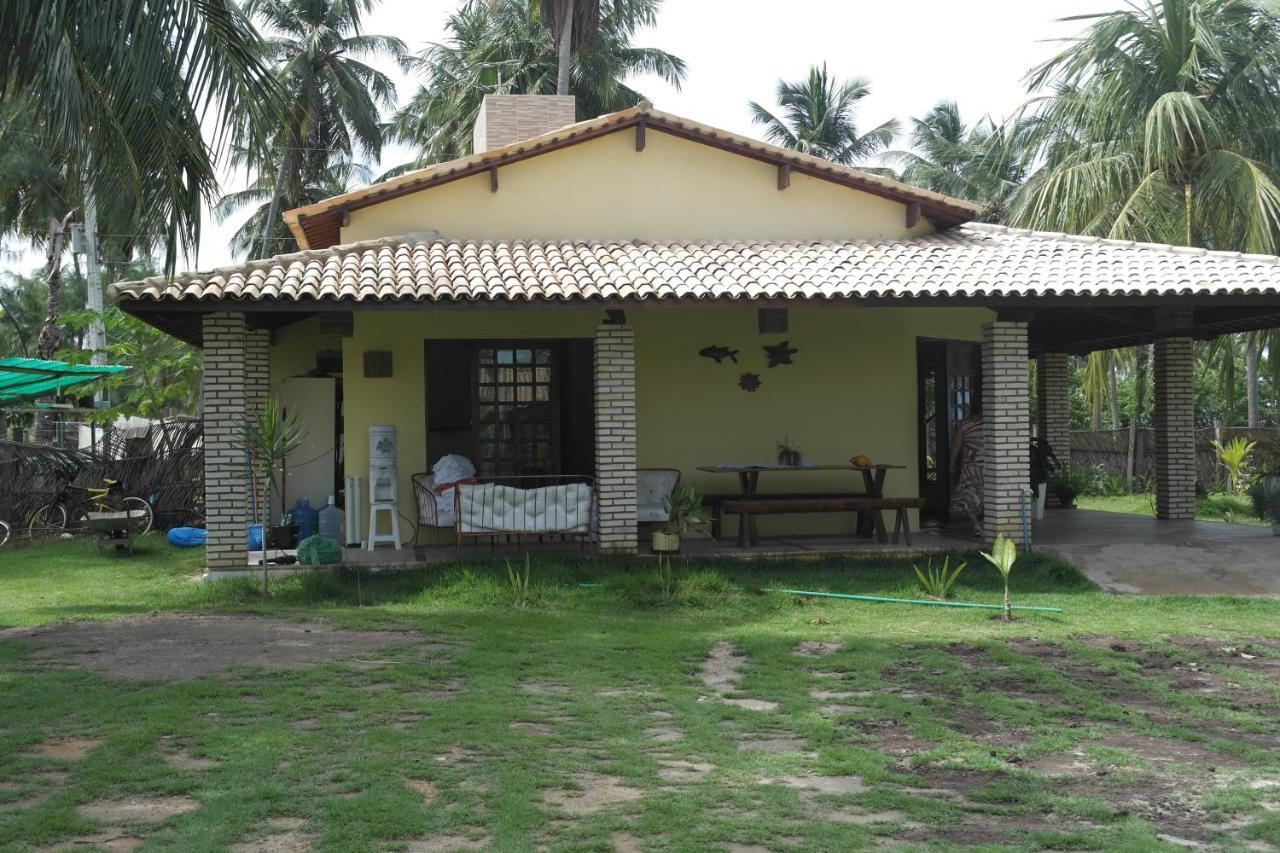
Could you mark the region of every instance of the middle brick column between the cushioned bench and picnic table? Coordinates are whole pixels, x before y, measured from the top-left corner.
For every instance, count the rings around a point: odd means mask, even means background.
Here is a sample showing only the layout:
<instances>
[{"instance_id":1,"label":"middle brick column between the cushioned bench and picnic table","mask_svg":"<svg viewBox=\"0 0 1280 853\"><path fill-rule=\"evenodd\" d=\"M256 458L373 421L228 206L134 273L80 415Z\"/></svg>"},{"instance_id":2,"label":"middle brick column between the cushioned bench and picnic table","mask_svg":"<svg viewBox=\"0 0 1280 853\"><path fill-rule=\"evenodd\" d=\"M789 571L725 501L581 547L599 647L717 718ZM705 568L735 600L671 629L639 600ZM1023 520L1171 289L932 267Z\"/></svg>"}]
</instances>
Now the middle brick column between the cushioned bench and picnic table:
<instances>
[{"instance_id":1,"label":"middle brick column between the cushioned bench and picnic table","mask_svg":"<svg viewBox=\"0 0 1280 853\"><path fill-rule=\"evenodd\" d=\"M595 488L600 549L635 553L636 373L628 325L595 330Z\"/></svg>"}]
</instances>

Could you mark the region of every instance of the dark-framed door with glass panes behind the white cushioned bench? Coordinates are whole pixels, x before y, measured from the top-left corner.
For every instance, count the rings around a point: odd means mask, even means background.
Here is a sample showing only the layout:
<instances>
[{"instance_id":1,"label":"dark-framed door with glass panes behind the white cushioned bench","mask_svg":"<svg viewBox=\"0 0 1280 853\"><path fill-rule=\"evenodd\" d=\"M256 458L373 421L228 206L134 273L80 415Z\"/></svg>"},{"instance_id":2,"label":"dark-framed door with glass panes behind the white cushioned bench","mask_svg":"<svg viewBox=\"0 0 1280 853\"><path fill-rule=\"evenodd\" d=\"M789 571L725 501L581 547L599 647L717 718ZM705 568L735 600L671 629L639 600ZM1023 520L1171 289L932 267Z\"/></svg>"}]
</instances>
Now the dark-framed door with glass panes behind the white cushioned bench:
<instances>
[{"instance_id":1,"label":"dark-framed door with glass panes behind the white cushioned bench","mask_svg":"<svg viewBox=\"0 0 1280 853\"><path fill-rule=\"evenodd\" d=\"M483 476L559 473L556 348L526 342L479 347L476 469Z\"/></svg>"}]
</instances>

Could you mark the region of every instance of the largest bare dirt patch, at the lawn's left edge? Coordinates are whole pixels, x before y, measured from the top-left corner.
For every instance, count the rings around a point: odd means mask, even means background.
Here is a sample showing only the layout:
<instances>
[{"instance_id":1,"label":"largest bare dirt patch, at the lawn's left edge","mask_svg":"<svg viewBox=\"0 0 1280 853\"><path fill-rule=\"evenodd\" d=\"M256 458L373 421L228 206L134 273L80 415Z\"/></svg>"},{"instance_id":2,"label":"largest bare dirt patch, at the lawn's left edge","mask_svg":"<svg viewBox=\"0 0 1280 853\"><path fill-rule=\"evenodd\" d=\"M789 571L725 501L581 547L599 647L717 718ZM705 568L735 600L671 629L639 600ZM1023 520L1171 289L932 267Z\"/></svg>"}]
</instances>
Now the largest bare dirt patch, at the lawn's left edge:
<instances>
[{"instance_id":1,"label":"largest bare dirt patch, at the lawn's left edge","mask_svg":"<svg viewBox=\"0 0 1280 853\"><path fill-rule=\"evenodd\" d=\"M413 631L346 630L325 621L184 615L8 629L0 631L0 639L28 643L36 661L160 681L184 681L237 666L293 669L428 642Z\"/></svg>"}]
</instances>

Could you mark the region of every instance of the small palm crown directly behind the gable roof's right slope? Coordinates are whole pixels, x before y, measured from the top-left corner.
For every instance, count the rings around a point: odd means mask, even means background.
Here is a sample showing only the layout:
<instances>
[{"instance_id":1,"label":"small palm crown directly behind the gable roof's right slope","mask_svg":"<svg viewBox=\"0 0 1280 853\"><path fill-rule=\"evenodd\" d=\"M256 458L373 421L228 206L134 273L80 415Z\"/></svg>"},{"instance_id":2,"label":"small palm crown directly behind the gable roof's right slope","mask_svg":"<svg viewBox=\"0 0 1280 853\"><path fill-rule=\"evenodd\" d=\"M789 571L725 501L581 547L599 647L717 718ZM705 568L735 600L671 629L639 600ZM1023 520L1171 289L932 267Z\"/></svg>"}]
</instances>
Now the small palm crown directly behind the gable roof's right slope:
<instances>
[{"instance_id":1,"label":"small palm crown directly behind the gable roof's right slope","mask_svg":"<svg viewBox=\"0 0 1280 853\"><path fill-rule=\"evenodd\" d=\"M823 64L810 68L803 81L778 81L776 99L782 108L781 117L755 101L749 106L751 120L764 126L769 142L851 165L879 154L897 136L897 119L867 133L858 132L854 113L868 95L870 85L867 81L836 82Z\"/></svg>"}]
</instances>

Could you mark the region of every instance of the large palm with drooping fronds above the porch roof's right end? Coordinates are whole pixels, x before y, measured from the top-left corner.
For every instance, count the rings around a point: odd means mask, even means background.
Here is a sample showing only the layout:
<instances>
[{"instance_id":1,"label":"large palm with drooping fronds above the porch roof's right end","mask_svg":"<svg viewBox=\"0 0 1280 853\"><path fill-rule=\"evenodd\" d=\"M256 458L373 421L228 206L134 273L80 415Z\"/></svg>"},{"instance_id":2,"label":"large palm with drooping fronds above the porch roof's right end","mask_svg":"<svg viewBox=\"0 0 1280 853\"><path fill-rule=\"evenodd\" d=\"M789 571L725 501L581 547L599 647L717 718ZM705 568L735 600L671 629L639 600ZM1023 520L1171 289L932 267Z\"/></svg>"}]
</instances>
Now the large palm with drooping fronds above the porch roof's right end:
<instances>
[{"instance_id":1,"label":"large palm with drooping fronds above the porch roof's right end","mask_svg":"<svg viewBox=\"0 0 1280 853\"><path fill-rule=\"evenodd\" d=\"M1043 167L1016 224L1275 254L1280 8L1162 0L1094 23L1034 69Z\"/></svg>"}]
</instances>

